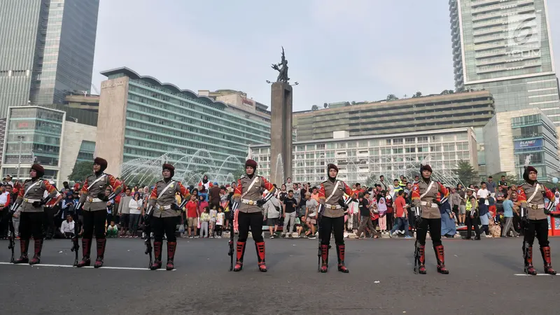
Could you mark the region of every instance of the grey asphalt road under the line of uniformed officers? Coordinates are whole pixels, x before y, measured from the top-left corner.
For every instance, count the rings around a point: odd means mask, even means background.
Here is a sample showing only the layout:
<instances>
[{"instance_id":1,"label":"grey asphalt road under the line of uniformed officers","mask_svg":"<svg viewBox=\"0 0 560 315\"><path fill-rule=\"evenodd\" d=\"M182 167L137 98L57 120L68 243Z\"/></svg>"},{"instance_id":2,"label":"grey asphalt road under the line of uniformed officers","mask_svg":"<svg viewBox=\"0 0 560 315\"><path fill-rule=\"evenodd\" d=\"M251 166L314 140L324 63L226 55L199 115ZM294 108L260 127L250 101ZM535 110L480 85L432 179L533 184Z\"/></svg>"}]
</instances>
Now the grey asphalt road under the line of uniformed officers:
<instances>
[{"instance_id":1,"label":"grey asphalt road under the line of uniformed officers","mask_svg":"<svg viewBox=\"0 0 560 315\"><path fill-rule=\"evenodd\" d=\"M414 240L346 241L349 274L337 272L334 248L329 272L318 273L317 241L309 239L267 239L269 272L261 273L252 243L241 272L228 272L227 239L179 239L176 270L169 272L2 264L1 314L560 312L560 277L515 275L523 272L520 238L444 239L448 275L436 272L431 248L428 274L412 272ZM8 262L8 242L0 246L0 261ZM553 265L560 267L560 239L551 239L551 246ZM71 265L70 247L69 240L45 241L41 262ZM534 262L542 272L538 248ZM109 239L105 265L146 267L143 241Z\"/></svg>"}]
</instances>

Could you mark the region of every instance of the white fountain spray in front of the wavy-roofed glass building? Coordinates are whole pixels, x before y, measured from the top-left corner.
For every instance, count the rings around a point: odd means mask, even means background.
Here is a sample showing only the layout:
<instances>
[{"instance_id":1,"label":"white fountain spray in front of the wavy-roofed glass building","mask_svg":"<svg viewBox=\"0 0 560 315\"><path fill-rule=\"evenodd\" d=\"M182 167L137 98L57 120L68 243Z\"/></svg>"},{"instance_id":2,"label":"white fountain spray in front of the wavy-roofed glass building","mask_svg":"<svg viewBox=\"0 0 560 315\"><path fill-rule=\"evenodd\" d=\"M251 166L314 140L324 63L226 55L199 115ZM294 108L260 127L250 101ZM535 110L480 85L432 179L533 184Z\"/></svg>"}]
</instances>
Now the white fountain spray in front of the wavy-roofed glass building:
<instances>
[{"instance_id":1,"label":"white fountain spray in front of the wavy-roofed glass building","mask_svg":"<svg viewBox=\"0 0 560 315\"><path fill-rule=\"evenodd\" d=\"M230 170L238 169L243 165L235 155L229 155L220 163L205 149L200 149L192 155L176 150L157 158L138 158L124 162L120 168L120 179L125 183L151 186L161 179L164 163L174 165L174 179L181 181L185 186L197 186L204 175L213 182L231 183L235 181L235 175Z\"/></svg>"}]
</instances>

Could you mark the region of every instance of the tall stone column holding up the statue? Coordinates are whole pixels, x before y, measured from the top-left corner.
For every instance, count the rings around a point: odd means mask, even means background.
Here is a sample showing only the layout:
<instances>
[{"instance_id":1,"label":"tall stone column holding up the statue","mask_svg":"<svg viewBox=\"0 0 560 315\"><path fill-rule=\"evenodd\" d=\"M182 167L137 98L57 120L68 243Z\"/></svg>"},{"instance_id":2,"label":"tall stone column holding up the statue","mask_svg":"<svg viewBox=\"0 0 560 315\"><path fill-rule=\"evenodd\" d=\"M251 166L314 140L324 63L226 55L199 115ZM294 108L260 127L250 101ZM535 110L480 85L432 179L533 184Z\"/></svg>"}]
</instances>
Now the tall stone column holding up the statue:
<instances>
[{"instance_id":1,"label":"tall stone column holding up the statue","mask_svg":"<svg viewBox=\"0 0 560 315\"><path fill-rule=\"evenodd\" d=\"M270 181L280 188L292 177L292 86L272 83L270 126Z\"/></svg>"}]
</instances>

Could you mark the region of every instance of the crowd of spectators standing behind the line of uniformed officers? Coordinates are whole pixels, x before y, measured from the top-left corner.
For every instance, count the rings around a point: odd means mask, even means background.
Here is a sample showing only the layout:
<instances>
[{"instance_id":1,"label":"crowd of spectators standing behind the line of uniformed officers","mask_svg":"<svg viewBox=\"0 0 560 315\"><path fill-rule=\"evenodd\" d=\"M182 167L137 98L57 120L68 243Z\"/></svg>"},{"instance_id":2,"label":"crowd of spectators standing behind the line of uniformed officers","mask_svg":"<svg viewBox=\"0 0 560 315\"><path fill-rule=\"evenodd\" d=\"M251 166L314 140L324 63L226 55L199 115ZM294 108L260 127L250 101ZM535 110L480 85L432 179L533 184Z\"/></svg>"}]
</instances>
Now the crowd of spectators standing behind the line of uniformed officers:
<instances>
[{"instance_id":1,"label":"crowd of spectators standing behind the line of uniformed officers","mask_svg":"<svg viewBox=\"0 0 560 315\"><path fill-rule=\"evenodd\" d=\"M412 239L414 230L414 211L412 203L412 185L419 181L407 181L405 176L388 183L384 176L372 187L354 183L351 187L355 201L349 203L345 211L344 237L398 237ZM52 183L52 182L51 182ZM54 184L54 183L52 183ZM204 176L197 186L190 186L190 200L181 209L181 221L178 230L181 237L221 238L230 230L229 211L236 182L218 185ZM276 184L274 184L276 186ZM45 239L71 238L74 233L74 218L83 220L81 209L75 211L80 198L81 183L63 183L59 190L61 197L45 205L43 231ZM127 186L123 182L123 193L107 202L106 235L107 237L137 238L141 237L144 226L143 214L146 211L152 188L137 185ZM7 176L0 183L0 237L8 237L8 207L21 189L19 181L12 181ZM471 238L475 230L475 239L480 237L519 237L522 235L517 200L517 186L508 184L502 177L496 184L490 176L487 181L471 184L465 188L458 184L447 188L449 199L440 205L442 214L442 235L458 237L458 230L466 230L466 237ZM560 192L553 190L556 211L560 211ZM262 213L267 226L269 238L306 237L316 239L318 186L311 183L293 183L290 178L276 190L266 204ZM181 197L177 194L177 202ZM549 202L547 200L547 202ZM18 235L18 213L13 214L15 233ZM463 228L464 227L464 228ZM472 227L472 228L471 228ZM234 232L238 232L237 216L233 223ZM280 231L281 230L281 231Z\"/></svg>"}]
</instances>

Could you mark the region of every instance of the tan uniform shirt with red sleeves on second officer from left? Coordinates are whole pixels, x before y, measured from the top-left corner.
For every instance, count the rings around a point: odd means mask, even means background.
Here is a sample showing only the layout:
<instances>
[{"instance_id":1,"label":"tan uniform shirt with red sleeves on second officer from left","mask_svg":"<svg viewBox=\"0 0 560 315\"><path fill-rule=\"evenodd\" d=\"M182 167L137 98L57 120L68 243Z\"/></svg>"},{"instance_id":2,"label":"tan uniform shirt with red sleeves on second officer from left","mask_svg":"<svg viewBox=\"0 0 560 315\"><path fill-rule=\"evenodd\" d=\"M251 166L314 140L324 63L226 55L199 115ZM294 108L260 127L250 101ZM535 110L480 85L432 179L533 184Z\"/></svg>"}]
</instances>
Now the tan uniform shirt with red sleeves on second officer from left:
<instances>
[{"instance_id":1,"label":"tan uniform shirt with red sleeves on second officer from left","mask_svg":"<svg viewBox=\"0 0 560 315\"><path fill-rule=\"evenodd\" d=\"M102 177L103 176L103 177ZM99 179L101 178L102 179ZM99 179L99 181L97 180ZM82 195L80 197L80 202L83 203L84 211L101 211L107 209L107 202L99 200L99 194L105 195L105 190L107 187L111 186L113 188L113 193L118 195L123 187L120 181L117 181L115 177L111 174L100 174L99 176L91 174L87 176L82 187Z\"/></svg>"}]
</instances>

